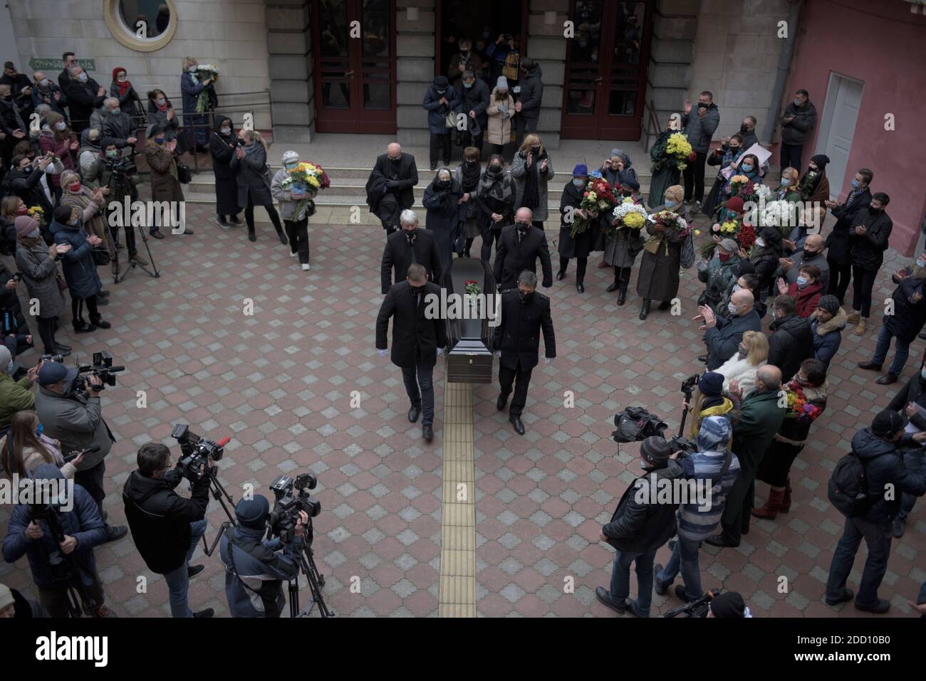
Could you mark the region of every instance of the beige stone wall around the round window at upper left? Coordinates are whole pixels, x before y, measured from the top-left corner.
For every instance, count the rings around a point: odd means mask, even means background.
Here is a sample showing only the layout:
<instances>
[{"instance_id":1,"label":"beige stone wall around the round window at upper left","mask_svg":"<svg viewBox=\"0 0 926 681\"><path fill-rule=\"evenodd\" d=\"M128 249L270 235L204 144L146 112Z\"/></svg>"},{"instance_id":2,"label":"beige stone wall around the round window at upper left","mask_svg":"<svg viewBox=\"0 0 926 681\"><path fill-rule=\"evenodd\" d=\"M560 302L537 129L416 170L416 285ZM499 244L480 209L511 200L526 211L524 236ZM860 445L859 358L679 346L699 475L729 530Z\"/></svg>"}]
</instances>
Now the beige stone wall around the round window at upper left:
<instances>
[{"instance_id":1,"label":"beige stone wall around the round window at upper left","mask_svg":"<svg viewBox=\"0 0 926 681\"><path fill-rule=\"evenodd\" d=\"M19 69L31 75L30 57L57 57L70 50L94 58L91 77L109 87L112 69L128 69L144 97L157 87L180 106L181 59L194 56L220 69L221 104L237 104L222 93L269 90L264 0L176 0L180 22L173 39L156 52L136 52L117 42L106 26L103 0L7 0L19 48ZM57 78L57 73L54 78ZM239 98L239 103L244 102ZM252 95L248 102L256 101ZM255 107L256 127L269 127L267 107ZM236 122L240 115L233 117Z\"/></svg>"}]
</instances>

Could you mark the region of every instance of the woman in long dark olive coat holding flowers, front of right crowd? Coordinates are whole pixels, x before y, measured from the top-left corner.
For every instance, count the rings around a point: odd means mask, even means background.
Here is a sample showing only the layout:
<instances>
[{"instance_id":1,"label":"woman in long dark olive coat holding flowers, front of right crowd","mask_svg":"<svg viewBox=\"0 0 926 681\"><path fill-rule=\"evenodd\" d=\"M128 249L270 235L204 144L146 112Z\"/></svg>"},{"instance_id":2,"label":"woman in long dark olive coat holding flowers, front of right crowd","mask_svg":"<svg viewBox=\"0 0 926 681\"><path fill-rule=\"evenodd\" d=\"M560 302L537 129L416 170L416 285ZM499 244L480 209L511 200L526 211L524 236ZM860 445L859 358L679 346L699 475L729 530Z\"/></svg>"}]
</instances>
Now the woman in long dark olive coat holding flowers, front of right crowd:
<instances>
[{"instance_id":1,"label":"woman in long dark olive coat holding flowers, front of right crowd","mask_svg":"<svg viewBox=\"0 0 926 681\"><path fill-rule=\"evenodd\" d=\"M660 301L659 309L668 310L679 293L679 269L682 266L682 241L691 226L676 211L682 209L684 188L676 184L666 190L665 201L646 220L650 235L644 244L643 260L637 278L637 294L643 298L640 318L649 315L650 303Z\"/></svg>"}]
</instances>

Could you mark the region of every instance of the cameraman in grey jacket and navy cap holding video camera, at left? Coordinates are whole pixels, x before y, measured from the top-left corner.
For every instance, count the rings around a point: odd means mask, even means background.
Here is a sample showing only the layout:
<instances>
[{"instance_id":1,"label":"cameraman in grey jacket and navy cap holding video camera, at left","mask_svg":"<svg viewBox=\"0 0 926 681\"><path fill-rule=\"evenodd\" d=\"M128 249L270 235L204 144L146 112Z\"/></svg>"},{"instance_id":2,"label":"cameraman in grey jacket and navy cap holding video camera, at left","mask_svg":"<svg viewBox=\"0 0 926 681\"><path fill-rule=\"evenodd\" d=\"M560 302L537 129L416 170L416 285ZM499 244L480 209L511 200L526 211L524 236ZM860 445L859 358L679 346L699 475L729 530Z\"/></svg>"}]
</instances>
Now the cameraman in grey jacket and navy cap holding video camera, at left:
<instances>
[{"instance_id":1,"label":"cameraman in grey jacket and navy cap holding video camera, at left","mask_svg":"<svg viewBox=\"0 0 926 681\"><path fill-rule=\"evenodd\" d=\"M66 457L71 452L99 447L82 458L74 482L93 497L106 523L103 478L106 476L106 454L116 438L103 420L100 404L103 381L97 376L81 377L78 374L76 368L68 368L60 362L45 362L39 369L35 411L44 425L44 434L60 440L61 453ZM128 533L125 526L106 524L105 527L106 541L122 539Z\"/></svg>"}]
</instances>

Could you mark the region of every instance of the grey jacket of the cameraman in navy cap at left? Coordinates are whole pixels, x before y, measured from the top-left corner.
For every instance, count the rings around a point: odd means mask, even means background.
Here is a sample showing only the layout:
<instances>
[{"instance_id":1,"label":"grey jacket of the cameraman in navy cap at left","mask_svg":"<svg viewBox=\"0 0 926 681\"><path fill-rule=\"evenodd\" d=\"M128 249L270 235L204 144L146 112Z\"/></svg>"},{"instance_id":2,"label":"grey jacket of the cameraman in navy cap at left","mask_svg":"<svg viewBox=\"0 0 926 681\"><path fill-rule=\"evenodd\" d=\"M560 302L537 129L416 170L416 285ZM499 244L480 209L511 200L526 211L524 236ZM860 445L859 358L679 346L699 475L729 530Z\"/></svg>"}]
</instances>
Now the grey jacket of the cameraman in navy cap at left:
<instances>
[{"instance_id":1,"label":"grey jacket of the cameraman in navy cap at left","mask_svg":"<svg viewBox=\"0 0 926 681\"><path fill-rule=\"evenodd\" d=\"M65 456L99 445L98 452L83 455L79 471L89 470L103 461L116 441L103 420L100 398L93 394L88 390L86 395L65 396L41 386L35 394L35 413L44 425L43 432L49 438L60 440Z\"/></svg>"}]
</instances>

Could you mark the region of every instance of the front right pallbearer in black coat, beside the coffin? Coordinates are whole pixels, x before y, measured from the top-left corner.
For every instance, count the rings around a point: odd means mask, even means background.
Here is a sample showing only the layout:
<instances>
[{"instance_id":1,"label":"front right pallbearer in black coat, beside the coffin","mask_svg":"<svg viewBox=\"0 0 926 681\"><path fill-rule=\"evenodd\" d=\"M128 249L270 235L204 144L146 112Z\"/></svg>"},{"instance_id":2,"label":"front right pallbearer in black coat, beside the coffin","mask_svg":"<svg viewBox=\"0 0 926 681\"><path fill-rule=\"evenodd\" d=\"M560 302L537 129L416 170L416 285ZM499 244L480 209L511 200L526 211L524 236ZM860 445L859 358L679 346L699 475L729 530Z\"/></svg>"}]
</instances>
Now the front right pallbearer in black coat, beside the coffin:
<instances>
[{"instance_id":1,"label":"front right pallbearer in black coat, beside the coffin","mask_svg":"<svg viewBox=\"0 0 926 681\"><path fill-rule=\"evenodd\" d=\"M495 355L501 358L498 382L502 387L496 406L498 411L505 409L514 384L515 396L508 409L508 420L519 435L524 434L520 415L527 403L531 373L540 362L541 329L544 331L544 364L550 364L557 356L550 299L536 291L537 275L530 270L521 272L518 288L502 293L501 320L494 335Z\"/></svg>"}]
</instances>

